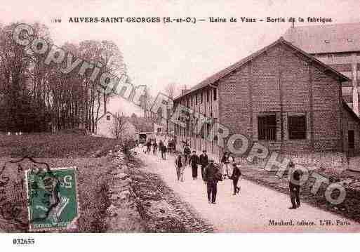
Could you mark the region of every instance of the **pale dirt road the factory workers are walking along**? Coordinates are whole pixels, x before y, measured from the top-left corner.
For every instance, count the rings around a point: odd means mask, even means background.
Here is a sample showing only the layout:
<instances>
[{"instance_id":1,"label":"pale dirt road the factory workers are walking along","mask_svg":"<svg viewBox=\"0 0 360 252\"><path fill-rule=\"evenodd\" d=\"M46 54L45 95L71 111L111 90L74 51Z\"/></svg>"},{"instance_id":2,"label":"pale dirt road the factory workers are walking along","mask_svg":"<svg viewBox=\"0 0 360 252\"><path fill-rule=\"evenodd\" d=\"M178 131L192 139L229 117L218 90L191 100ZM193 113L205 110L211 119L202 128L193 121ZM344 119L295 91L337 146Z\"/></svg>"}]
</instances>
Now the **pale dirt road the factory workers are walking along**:
<instances>
[{"instance_id":1,"label":"pale dirt road the factory workers are walking along","mask_svg":"<svg viewBox=\"0 0 360 252\"><path fill-rule=\"evenodd\" d=\"M146 169L161 175L174 192L213 224L216 232L360 232L360 223L306 203L298 209L288 209L291 206L288 195L248 180L239 182L241 192L235 196L232 195L231 180L218 183L217 204L208 204L200 171L198 179L192 180L191 168L187 167L185 181L181 183L175 179L173 157L164 161L159 156L144 154L142 150L138 153L147 165ZM330 225L326 225L326 220L330 220ZM275 223L280 225L272 225Z\"/></svg>"}]
</instances>

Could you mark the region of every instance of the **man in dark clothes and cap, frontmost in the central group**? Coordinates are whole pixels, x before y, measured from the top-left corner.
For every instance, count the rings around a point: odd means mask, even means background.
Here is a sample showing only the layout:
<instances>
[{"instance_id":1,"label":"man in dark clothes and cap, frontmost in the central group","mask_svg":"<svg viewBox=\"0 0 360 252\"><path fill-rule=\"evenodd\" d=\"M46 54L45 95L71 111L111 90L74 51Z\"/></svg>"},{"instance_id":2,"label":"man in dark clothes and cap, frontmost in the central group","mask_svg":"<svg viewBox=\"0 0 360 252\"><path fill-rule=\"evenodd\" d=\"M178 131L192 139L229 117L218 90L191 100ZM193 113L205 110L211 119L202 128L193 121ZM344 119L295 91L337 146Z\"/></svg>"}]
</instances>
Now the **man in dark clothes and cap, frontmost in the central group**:
<instances>
[{"instance_id":1,"label":"man in dark clothes and cap, frontmost in the central group","mask_svg":"<svg viewBox=\"0 0 360 252\"><path fill-rule=\"evenodd\" d=\"M210 159L204 170L204 182L208 192L208 203L216 204L216 193L218 192L218 180L221 180L219 169L215 167L214 160Z\"/></svg>"}]
</instances>

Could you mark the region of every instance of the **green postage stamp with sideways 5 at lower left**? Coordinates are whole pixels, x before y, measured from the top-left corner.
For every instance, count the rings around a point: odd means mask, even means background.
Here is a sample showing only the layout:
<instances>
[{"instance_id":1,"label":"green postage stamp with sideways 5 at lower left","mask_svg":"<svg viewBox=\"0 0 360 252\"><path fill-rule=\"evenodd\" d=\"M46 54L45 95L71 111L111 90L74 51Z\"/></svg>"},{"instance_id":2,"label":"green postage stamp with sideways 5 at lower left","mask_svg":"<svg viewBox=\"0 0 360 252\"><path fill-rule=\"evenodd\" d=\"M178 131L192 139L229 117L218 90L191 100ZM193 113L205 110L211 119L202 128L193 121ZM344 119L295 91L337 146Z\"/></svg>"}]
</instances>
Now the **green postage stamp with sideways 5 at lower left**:
<instances>
[{"instance_id":1,"label":"green postage stamp with sideways 5 at lower left","mask_svg":"<svg viewBox=\"0 0 360 252\"><path fill-rule=\"evenodd\" d=\"M29 230L66 229L79 217L76 167L27 170Z\"/></svg>"}]
</instances>

